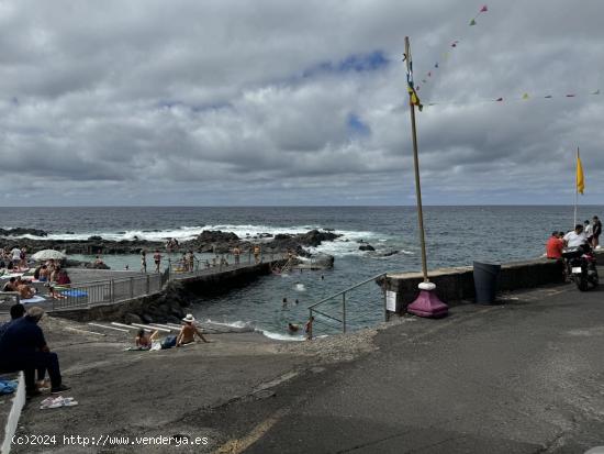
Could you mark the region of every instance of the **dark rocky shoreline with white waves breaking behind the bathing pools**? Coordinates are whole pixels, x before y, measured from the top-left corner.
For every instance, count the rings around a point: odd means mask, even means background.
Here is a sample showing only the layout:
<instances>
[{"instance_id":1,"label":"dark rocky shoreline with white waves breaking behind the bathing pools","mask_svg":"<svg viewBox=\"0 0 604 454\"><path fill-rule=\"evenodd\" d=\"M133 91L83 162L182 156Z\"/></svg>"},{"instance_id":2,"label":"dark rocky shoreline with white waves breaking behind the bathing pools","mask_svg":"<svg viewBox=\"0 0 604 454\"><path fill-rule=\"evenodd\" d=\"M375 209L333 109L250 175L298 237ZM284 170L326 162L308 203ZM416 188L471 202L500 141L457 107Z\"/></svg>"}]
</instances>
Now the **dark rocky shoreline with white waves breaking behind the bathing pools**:
<instances>
[{"instance_id":1,"label":"dark rocky shoreline with white waves breaking behind the bathing pools","mask_svg":"<svg viewBox=\"0 0 604 454\"><path fill-rule=\"evenodd\" d=\"M0 241L2 242L1 245L9 250L15 246L26 247L30 255L42 250L57 250L64 251L66 254L85 255L139 254L141 251L167 251L165 242L136 237L134 240L121 241L105 240L102 236L90 236L87 240L48 240L48 233L38 229L0 229ZM15 237L22 235L37 236L40 239ZM301 234L279 233L271 235L269 233L261 233L256 236L242 239L233 232L203 231L193 240L183 241L178 245L171 246L169 252L184 253L193 251L195 253L227 254L233 248L238 247L242 254L246 254L258 244L265 254L282 254L291 251L299 256L310 257L311 254L304 247L316 247L324 241L334 241L339 236L342 235L332 231L311 230Z\"/></svg>"}]
</instances>

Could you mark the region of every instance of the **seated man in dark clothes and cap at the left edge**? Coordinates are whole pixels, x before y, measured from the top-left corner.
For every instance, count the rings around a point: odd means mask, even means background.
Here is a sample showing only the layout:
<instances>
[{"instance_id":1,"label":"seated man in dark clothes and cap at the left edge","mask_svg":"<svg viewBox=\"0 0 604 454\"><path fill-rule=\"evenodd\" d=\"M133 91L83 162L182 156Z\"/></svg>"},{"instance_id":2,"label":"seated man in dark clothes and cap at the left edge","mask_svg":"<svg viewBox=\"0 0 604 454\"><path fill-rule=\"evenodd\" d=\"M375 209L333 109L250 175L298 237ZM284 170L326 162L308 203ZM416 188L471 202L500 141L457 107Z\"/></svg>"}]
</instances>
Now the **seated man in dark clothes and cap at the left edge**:
<instances>
[{"instance_id":1,"label":"seated man in dark clothes and cap at the left edge","mask_svg":"<svg viewBox=\"0 0 604 454\"><path fill-rule=\"evenodd\" d=\"M23 370L29 397L40 394L35 386L35 370L42 367L51 376L51 392L69 389L61 384L58 356L48 350L44 333L37 325L43 314L42 308L30 308L27 314L12 321L0 337L0 372Z\"/></svg>"}]
</instances>

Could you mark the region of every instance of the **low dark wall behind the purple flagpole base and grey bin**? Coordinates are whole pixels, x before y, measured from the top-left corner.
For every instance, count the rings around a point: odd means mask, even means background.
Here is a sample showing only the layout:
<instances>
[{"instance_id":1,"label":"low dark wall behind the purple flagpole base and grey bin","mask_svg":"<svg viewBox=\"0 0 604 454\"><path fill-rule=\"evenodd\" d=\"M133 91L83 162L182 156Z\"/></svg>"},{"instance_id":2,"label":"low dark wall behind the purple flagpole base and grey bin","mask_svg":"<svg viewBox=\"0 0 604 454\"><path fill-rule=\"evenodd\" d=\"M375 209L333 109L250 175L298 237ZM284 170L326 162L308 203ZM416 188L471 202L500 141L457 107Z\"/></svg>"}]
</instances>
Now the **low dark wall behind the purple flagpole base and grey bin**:
<instances>
[{"instance_id":1,"label":"low dark wall behind the purple flagpole base and grey bin","mask_svg":"<svg viewBox=\"0 0 604 454\"><path fill-rule=\"evenodd\" d=\"M547 258L504 264L499 276L497 291L560 284L562 269L562 263ZM430 281L436 284L436 292L443 301L455 304L474 300L472 267L441 268L428 275ZM381 285L387 290L396 291L399 307L404 310L417 297L417 284L422 281L421 273L389 274Z\"/></svg>"}]
</instances>

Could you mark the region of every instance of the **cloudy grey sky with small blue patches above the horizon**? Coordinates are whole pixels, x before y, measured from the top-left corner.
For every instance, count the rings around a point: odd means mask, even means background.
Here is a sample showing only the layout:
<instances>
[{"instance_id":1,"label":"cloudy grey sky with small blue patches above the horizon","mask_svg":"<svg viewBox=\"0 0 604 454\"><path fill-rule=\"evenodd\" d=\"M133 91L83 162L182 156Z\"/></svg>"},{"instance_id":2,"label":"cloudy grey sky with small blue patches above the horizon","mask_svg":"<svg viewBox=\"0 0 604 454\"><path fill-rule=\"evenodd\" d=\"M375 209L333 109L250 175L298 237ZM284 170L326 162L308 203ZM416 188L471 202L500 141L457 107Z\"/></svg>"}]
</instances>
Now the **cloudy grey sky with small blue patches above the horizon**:
<instances>
[{"instance_id":1,"label":"cloudy grey sky with small blue patches above the horizon","mask_svg":"<svg viewBox=\"0 0 604 454\"><path fill-rule=\"evenodd\" d=\"M405 36L425 204L602 204L604 2L483 4L0 0L0 206L413 204Z\"/></svg>"}]
</instances>

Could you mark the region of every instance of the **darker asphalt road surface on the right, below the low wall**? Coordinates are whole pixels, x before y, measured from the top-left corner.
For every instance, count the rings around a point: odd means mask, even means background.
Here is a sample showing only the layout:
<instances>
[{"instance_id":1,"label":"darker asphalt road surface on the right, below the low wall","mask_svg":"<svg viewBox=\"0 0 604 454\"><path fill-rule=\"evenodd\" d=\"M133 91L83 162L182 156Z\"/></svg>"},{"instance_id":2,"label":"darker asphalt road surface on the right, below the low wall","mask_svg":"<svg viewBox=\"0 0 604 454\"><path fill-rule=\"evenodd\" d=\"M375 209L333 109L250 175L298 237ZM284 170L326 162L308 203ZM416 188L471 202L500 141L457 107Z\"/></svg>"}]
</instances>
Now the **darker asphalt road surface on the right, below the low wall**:
<instances>
[{"instance_id":1,"label":"darker asphalt road surface on the right, below the low wall","mask_svg":"<svg viewBox=\"0 0 604 454\"><path fill-rule=\"evenodd\" d=\"M516 299L517 298L517 299ZM379 351L190 423L225 452L583 453L604 445L604 291L462 306L381 331Z\"/></svg>"}]
</instances>

